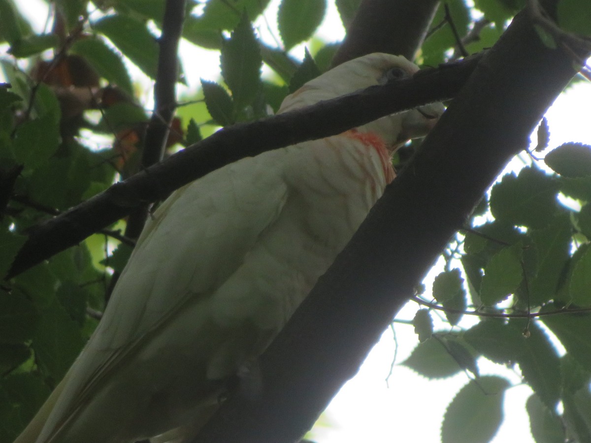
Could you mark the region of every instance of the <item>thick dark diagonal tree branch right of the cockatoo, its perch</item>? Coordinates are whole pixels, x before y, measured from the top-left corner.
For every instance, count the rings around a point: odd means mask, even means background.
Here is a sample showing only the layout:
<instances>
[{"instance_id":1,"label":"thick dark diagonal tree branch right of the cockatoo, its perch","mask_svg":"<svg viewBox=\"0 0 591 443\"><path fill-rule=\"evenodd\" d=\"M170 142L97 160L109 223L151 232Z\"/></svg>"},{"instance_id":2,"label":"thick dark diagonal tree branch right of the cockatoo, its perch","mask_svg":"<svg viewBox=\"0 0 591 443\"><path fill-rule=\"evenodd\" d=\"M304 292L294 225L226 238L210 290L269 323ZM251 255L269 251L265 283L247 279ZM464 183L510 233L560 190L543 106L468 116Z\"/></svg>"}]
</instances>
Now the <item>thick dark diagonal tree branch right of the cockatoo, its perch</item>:
<instances>
[{"instance_id":1,"label":"thick dark diagonal tree branch right of the cockatoo, its perch","mask_svg":"<svg viewBox=\"0 0 591 443\"><path fill-rule=\"evenodd\" d=\"M193 442L297 441L574 74L573 58L518 14L261 356L258 398L230 397Z\"/></svg>"}]
</instances>

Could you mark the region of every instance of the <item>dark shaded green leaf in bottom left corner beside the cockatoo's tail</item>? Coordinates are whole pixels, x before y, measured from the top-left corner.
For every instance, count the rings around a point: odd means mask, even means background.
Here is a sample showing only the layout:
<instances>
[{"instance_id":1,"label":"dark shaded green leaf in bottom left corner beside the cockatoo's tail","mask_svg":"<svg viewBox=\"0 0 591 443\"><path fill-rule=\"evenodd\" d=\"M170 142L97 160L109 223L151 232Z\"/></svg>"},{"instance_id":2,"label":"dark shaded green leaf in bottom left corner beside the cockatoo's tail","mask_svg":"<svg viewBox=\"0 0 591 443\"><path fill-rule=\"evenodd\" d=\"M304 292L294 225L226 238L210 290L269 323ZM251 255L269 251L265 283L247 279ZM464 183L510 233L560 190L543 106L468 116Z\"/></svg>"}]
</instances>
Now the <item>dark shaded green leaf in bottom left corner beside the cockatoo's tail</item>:
<instances>
[{"instance_id":1,"label":"dark shaded green leaf in bottom left corner beside the cockatoo's tail","mask_svg":"<svg viewBox=\"0 0 591 443\"><path fill-rule=\"evenodd\" d=\"M0 441L13 441L50 394L38 374L11 374L0 380Z\"/></svg>"}]
</instances>

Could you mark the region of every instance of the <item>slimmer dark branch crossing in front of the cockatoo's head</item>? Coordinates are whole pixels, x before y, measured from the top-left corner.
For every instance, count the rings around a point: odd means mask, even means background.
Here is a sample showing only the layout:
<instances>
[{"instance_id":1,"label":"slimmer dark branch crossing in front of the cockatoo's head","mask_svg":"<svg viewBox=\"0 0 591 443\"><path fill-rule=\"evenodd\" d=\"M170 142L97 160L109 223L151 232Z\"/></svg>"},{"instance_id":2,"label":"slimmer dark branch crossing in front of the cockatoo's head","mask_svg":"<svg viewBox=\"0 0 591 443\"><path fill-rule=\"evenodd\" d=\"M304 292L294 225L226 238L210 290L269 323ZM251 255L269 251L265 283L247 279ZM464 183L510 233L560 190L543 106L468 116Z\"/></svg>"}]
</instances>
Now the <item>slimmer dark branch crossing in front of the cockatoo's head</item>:
<instances>
[{"instance_id":1,"label":"slimmer dark branch crossing in front of the cockatoo's head","mask_svg":"<svg viewBox=\"0 0 591 443\"><path fill-rule=\"evenodd\" d=\"M224 128L35 227L7 278L76 245L141 204L161 200L184 184L243 157L336 135L384 115L449 99L466 82L477 59L423 70L396 84L369 87L309 108Z\"/></svg>"}]
</instances>

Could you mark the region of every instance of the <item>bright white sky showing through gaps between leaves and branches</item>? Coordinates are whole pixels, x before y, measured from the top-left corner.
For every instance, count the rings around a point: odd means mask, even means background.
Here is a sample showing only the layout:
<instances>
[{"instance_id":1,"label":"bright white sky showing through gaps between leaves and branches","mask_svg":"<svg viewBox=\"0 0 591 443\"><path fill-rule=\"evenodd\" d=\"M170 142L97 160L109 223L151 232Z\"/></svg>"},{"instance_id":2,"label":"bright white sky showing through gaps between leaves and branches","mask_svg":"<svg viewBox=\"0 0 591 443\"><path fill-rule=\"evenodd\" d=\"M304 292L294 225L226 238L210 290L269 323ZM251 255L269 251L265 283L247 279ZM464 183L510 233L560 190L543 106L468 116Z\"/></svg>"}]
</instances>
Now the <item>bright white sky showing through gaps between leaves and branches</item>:
<instances>
[{"instance_id":1,"label":"bright white sky showing through gaps between leaves and branches","mask_svg":"<svg viewBox=\"0 0 591 443\"><path fill-rule=\"evenodd\" d=\"M18 3L18 2L17 2ZM31 19L43 28L47 16L46 4L40 0L27 0L20 6ZM278 0L274 0L265 14L268 25L278 35L275 25ZM340 19L333 2L329 2L327 18L319 31L319 36L327 41L338 41L344 35ZM270 39L267 22L259 19L258 32ZM291 51L295 56L303 56L303 45ZM202 51L183 42L181 54L185 54L184 70L189 86L199 85L199 78L216 80L219 78L219 54L214 51ZM190 56L187 56L190 54ZM199 61L199 63L191 63ZM137 69L132 72L139 73ZM148 93L150 83L138 74L138 79L145 84ZM547 118L550 125L550 146L556 147L564 142L579 141L591 144L588 106L591 103L591 84L579 83L563 93L550 110ZM431 272L426 280L430 288L433 276ZM398 315L399 319L411 320L417 311L417 305L408 304ZM436 318L436 315L433 315ZM470 321L467 319L466 321ZM469 325L470 323L467 323ZM466 324L464 324L466 325ZM397 362L404 361L418 343L413 327L397 323L394 325L398 338ZM394 366L389 377L389 386L385 379L394 357L395 344L392 331L388 330L371 351L359 373L340 390L332 400L326 412L313 430L312 438L318 443L390 443L400 442L437 442L443 413L457 391L469 379L464 373L450 379L430 381L417 376L403 366ZM525 412L525 400L531 394L529 387L519 385L517 373L505 367L480 361L480 373L499 374L507 377L511 387L505 397L505 421L493 442L532 442L529 432L529 419Z\"/></svg>"}]
</instances>

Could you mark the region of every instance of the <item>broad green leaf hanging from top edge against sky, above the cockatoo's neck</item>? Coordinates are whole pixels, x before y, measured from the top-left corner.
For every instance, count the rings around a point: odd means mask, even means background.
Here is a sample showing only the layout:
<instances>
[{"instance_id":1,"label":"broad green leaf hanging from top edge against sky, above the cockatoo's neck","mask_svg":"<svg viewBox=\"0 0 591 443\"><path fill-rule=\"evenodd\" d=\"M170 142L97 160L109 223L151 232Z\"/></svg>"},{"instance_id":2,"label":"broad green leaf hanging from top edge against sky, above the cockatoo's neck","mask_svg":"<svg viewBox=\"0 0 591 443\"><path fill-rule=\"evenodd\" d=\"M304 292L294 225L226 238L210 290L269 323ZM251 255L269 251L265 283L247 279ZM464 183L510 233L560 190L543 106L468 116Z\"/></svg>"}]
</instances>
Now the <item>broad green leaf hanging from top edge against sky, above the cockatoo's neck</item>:
<instances>
[{"instance_id":1,"label":"broad green leaf hanging from top edge against sky, above the cockatoo's neck","mask_svg":"<svg viewBox=\"0 0 591 443\"><path fill-rule=\"evenodd\" d=\"M308 40L326 12L326 0L281 0L277 24L286 50Z\"/></svg>"}]
</instances>

